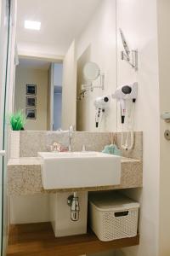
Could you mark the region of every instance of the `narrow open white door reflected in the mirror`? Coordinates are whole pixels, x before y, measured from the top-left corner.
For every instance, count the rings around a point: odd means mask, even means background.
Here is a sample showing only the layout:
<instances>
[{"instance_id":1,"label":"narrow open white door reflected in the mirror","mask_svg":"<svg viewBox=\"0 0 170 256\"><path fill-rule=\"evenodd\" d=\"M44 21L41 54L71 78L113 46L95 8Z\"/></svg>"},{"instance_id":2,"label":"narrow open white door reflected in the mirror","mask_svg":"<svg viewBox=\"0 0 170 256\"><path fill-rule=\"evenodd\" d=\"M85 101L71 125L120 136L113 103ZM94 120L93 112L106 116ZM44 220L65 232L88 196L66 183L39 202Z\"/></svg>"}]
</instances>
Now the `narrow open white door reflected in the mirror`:
<instances>
[{"instance_id":1,"label":"narrow open white door reflected in the mirror","mask_svg":"<svg viewBox=\"0 0 170 256\"><path fill-rule=\"evenodd\" d=\"M77 119L77 59L75 41L68 49L63 62L62 86L62 130L68 130L70 125L76 129Z\"/></svg>"}]
</instances>

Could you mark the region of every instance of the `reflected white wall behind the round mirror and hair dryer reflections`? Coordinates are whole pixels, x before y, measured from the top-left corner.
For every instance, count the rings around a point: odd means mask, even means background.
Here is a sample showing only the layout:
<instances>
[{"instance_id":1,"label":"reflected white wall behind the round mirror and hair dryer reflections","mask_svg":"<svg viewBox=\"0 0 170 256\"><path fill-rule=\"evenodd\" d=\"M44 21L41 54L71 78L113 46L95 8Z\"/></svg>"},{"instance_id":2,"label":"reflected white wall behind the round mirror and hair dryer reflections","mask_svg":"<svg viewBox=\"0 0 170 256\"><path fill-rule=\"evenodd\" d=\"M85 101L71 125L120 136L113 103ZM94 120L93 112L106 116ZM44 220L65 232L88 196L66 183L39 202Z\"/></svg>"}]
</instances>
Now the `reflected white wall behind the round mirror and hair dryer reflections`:
<instances>
[{"instance_id":1,"label":"reflected white wall behind the round mirror and hair dryer reflections","mask_svg":"<svg viewBox=\"0 0 170 256\"><path fill-rule=\"evenodd\" d=\"M105 90L95 89L89 92L81 102L77 102L77 129L96 131L94 99L97 96L111 95L116 90L116 0L104 0L96 9L92 20L77 39L78 89L85 81L82 68L86 61L94 61L105 73ZM99 84L99 79L95 82ZM111 101L111 108L103 124L97 131L116 130L116 102Z\"/></svg>"}]
</instances>

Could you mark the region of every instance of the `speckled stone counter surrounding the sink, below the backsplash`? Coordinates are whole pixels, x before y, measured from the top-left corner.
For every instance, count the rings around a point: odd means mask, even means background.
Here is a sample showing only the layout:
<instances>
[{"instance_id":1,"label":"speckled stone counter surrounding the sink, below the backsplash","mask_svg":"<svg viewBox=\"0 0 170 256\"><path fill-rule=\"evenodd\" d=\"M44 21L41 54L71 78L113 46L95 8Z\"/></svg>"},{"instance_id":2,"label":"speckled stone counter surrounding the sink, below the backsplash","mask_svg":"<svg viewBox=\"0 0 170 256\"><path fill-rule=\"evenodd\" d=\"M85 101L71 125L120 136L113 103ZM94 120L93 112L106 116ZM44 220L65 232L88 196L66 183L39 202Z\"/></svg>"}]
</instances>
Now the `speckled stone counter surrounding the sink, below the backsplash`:
<instances>
[{"instance_id":1,"label":"speckled stone counter surrounding the sink, below the backsplash","mask_svg":"<svg viewBox=\"0 0 170 256\"><path fill-rule=\"evenodd\" d=\"M122 157L121 184L114 186L54 189L42 188L41 162L38 157L20 157L8 161L8 195L34 195L37 193L55 193L75 190L109 190L142 187L142 160Z\"/></svg>"}]
</instances>

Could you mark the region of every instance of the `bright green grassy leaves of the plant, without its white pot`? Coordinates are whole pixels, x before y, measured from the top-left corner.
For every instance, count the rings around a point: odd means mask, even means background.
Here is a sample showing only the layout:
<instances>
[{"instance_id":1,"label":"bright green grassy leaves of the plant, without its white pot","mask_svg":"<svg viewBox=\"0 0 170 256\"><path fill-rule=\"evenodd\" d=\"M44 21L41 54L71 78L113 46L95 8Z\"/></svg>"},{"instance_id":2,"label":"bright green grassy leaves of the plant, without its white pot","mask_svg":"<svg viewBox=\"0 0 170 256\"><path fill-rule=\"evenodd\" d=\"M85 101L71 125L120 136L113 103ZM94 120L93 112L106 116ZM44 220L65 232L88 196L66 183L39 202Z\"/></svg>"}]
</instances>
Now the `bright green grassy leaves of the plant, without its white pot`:
<instances>
[{"instance_id":1,"label":"bright green grassy leaves of the plant, without its white pot","mask_svg":"<svg viewBox=\"0 0 170 256\"><path fill-rule=\"evenodd\" d=\"M9 122L13 131L20 131L26 124L26 117L21 110L16 113L11 113L9 116Z\"/></svg>"}]
</instances>

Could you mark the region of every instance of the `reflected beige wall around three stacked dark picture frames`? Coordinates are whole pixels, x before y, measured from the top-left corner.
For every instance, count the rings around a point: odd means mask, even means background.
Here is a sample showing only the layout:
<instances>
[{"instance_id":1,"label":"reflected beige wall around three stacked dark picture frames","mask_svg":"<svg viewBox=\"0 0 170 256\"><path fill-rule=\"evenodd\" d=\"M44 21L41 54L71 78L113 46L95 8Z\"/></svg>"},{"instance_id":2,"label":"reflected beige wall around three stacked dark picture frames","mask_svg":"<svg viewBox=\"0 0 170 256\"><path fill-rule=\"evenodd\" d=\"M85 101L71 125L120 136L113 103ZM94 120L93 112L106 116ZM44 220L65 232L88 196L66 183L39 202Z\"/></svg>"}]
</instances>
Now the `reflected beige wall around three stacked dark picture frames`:
<instances>
[{"instance_id":1,"label":"reflected beige wall around three stacked dark picture frames","mask_svg":"<svg viewBox=\"0 0 170 256\"><path fill-rule=\"evenodd\" d=\"M37 84L37 119L26 119L26 130L47 130L48 70L16 67L14 109L26 111L26 84Z\"/></svg>"}]
</instances>

